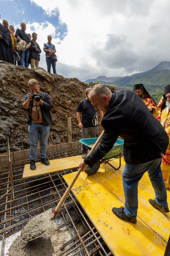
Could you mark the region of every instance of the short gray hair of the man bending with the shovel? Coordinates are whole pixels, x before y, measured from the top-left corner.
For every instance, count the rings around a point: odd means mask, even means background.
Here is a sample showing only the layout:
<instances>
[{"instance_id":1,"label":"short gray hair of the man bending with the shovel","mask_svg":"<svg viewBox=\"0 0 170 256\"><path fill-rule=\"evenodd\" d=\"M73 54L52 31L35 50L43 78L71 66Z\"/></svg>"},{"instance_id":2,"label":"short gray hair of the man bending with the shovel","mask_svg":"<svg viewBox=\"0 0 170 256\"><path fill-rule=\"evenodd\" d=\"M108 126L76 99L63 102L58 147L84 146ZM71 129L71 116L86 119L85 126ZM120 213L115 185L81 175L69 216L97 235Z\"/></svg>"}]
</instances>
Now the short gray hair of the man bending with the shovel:
<instances>
[{"instance_id":1,"label":"short gray hair of the man bending with the shovel","mask_svg":"<svg viewBox=\"0 0 170 256\"><path fill-rule=\"evenodd\" d=\"M102 98L102 96L111 97L111 94L111 90L105 84L95 84L89 93L89 97L93 95L98 98Z\"/></svg>"}]
</instances>

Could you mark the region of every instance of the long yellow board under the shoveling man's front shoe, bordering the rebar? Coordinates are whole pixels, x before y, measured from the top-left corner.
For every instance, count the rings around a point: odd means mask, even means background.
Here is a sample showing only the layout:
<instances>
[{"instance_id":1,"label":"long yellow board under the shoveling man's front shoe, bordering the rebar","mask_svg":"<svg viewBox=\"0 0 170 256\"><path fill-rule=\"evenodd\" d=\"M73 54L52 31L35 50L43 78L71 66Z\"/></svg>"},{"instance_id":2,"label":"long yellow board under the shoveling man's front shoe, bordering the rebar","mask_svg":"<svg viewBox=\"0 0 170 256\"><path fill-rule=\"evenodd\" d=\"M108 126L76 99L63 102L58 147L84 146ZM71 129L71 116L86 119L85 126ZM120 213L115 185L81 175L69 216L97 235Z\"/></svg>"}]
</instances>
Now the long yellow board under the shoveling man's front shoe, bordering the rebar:
<instances>
[{"instance_id":1,"label":"long yellow board under the shoveling man's front shoe, bordering the rebar","mask_svg":"<svg viewBox=\"0 0 170 256\"><path fill-rule=\"evenodd\" d=\"M70 184L74 175L75 172L63 175L63 177ZM122 221L112 213L112 207L120 207L122 203L109 189L96 180L95 175L87 176L82 172L72 192L113 255L162 256L164 254L166 242L142 219L137 218L136 224L131 224Z\"/></svg>"}]
</instances>

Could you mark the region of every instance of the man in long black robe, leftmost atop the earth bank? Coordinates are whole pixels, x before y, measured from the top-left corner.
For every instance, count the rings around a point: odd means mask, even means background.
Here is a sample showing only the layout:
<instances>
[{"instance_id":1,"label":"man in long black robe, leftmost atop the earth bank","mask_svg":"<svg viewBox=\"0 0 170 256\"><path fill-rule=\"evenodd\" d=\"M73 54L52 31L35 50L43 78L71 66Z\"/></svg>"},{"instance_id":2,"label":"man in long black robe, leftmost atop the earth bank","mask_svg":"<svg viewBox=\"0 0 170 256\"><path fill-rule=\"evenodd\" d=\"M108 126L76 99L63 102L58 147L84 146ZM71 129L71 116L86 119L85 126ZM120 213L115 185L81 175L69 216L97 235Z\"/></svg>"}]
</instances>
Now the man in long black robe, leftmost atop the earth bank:
<instances>
[{"instance_id":1,"label":"man in long black robe, leftmost atop the earth bank","mask_svg":"<svg viewBox=\"0 0 170 256\"><path fill-rule=\"evenodd\" d=\"M11 62L11 57L8 51L9 42L5 27L0 23L0 60Z\"/></svg>"}]
</instances>

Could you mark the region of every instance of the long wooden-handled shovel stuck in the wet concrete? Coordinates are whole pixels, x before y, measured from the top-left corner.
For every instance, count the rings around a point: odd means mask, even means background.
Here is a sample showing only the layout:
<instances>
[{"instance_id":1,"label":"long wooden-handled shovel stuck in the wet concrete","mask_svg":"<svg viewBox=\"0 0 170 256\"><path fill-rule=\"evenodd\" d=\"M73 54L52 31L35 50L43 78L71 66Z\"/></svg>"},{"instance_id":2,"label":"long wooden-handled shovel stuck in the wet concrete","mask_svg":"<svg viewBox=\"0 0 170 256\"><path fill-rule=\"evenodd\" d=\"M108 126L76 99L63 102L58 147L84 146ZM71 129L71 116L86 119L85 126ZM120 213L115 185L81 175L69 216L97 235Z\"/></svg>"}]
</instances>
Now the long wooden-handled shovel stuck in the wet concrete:
<instances>
[{"instance_id":1,"label":"long wooden-handled shovel stuck in the wet concrete","mask_svg":"<svg viewBox=\"0 0 170 256\"><path fill-rule=\"evenodd\" d=\"M94 151L94 149L96 148L96 146L99 144L102 135L104 133L104 130L102 131L102 133L100 134L99 138L96 140L95 144L93 145L93 147L91 148L91 151L88 153L91 154L92 151ZM57 204L56 209L54 210L53 214L51 215L50 220L54 220L54 218L56 217L58 211L60 210L60 208L62 207L62 204L64 203L66 197L68 196L68 193L70 192L70 190L72 189L72 186L74 185L75 181L77 180L77 178L79 177L79 174L81 172L81 169L79 168L77 174L75 175L74 179L71 181L70 185L68 186L68 188L66 189L64 195L62 196L62 198L60 199L59 203Z\"/></svg>"}]
</instances>

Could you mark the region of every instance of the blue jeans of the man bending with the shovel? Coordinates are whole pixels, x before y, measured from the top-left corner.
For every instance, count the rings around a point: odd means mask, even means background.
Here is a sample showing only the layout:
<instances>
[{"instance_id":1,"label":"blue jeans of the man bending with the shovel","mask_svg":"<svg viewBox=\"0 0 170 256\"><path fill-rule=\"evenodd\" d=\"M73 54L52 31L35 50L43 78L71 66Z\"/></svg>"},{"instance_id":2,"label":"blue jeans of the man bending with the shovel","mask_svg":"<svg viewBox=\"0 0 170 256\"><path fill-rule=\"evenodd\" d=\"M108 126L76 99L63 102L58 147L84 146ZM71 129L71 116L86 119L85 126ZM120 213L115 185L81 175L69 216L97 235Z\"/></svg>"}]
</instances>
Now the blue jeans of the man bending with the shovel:
<instances>
[{"instance_id":1,"label":"blue jeans of the man bending with the shovel","mask_svg":"<svg viewBox=\"0 0 170 256\"><path fill-rule=\"evenodd\" d=\"M161 172L161 158L141 164L125 164L122 173L123 189L125 194L125 214L130 218L136 218L138 210L138 183L148 172L155 199L161 206L167 207L167 190Z\"/></svg>"}]
</instances>

